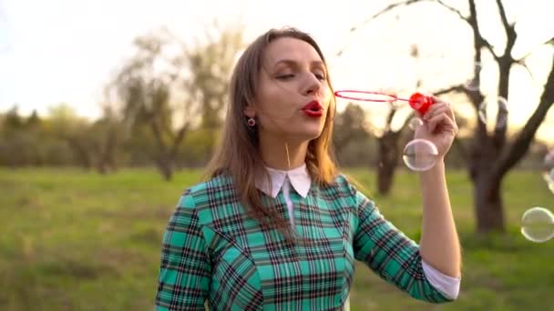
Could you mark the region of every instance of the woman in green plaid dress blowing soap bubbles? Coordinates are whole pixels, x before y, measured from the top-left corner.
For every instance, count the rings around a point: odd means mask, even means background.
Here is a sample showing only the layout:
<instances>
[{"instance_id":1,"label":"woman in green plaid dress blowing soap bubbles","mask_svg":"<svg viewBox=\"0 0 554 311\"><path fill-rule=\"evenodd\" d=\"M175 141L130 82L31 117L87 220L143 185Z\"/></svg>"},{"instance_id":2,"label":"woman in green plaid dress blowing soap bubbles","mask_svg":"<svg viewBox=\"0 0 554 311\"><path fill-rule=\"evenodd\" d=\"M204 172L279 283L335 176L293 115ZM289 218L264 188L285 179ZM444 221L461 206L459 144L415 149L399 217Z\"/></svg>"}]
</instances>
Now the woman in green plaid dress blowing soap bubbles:
<instances>
[{"instance_id":1,"label":"woman in green plaid dress blowing soap bubbles","mask_svg":"<svg viewBox=\"0 0 554 311\"><path fill-rule=\"evenodd\" d=\"M187 189L161 253L159 310L336 310L354 258L416 299L457 297L460 249L444 156L457 125L450 106L423 115L415 136L440 161L421 173L420 244L387 222L337 173L330 153L335 103L310 35L271 30L241 55L208 180Z\"/></svg>"}]
</instances>

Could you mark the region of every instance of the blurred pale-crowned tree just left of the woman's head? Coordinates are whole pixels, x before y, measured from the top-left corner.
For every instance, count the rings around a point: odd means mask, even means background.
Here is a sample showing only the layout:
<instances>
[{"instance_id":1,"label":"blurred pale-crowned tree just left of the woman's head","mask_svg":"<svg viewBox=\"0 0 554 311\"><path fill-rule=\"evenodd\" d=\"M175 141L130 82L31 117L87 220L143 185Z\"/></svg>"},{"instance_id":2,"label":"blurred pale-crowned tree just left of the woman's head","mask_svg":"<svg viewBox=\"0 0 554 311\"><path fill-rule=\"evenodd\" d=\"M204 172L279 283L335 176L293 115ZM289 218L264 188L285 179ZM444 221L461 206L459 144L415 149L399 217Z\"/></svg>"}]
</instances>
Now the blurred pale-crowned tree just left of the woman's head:
<instances>
[{"instance_id":1,"label":"blurred pale-crowned tree just left of the woman's head","mask_svg":"<svg viewBox=\"0 0 554 311\"><path fill-rule=\"evenodd\" d=\"M134 42L137 54L108 86L122 101L120 114L129 131L149 127L156 141L154 161L166 180L198 117L205 124L217 124L213 115L225 102L240 34L227 28L195 46L184 45L167 29L140 36Z\"/></svg>"}]
</instances>

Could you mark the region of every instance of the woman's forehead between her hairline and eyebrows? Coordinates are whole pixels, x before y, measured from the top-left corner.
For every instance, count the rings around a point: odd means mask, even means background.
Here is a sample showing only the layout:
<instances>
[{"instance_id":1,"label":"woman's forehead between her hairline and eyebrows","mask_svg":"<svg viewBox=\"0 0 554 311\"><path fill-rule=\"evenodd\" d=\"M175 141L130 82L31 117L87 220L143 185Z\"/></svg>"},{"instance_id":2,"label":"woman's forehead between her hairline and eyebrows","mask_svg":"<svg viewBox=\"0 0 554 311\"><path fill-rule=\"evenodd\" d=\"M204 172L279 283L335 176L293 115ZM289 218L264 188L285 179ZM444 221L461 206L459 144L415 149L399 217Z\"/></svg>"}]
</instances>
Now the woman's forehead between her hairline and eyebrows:
<instances>
[{"instance_id":1,"label":"woman's forehead between her hairline and eyebrows","mask_svg":"<svg viewBox=\"0 0 554 311\"><path fill-rule=\"evenodd\" d=\"M265 50L265 58L270 64L275 64L282 59L298 62L322 61L312 45L303 40L289 37L273 40Z\"/></svg>"}]
</instances>

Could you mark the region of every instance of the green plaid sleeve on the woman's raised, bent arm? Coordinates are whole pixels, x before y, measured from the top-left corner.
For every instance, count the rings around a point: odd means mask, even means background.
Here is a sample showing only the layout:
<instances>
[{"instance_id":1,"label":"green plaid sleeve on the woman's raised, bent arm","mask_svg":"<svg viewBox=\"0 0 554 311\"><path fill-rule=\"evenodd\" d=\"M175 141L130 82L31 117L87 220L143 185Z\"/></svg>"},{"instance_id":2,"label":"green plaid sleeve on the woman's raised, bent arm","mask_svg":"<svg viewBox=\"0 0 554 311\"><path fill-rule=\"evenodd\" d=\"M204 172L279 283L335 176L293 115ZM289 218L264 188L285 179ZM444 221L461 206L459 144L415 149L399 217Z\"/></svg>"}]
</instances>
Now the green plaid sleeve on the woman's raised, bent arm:
<instances>
[{"instance_id":1,"label":"green plaid sleeve on the woman's raised, bent arm","mask_svg":"<svg viewBox=\"0 0 554 311\"><path fill-rule=\"evenodd\" d=\"M378 276L418 300L443 303L444 295L426 278L419 246L381 215L364 194L351 186L358 224L354 231L354 256Z\"/></svg>"}]
</instances>

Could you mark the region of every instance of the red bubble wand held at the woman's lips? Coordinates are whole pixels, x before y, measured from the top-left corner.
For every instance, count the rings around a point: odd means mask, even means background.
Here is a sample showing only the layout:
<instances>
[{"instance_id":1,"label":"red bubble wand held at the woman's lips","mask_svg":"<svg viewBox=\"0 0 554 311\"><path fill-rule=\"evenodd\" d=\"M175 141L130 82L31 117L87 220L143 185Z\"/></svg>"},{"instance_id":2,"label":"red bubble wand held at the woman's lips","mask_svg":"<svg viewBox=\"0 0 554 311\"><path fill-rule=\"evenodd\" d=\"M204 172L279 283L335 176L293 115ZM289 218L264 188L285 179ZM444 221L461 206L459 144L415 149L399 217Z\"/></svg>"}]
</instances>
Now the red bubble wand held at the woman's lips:
<instances>
[{"instance_id":1,"label":"red bubble wand held at the woman's lips","mask_svg":"<svg viewBox=\"0 0 554 311\"><path fill-rule=\"evenodd\" d=\"M405 101L421 115L425 115L429 107L435 104L432 96L426 96L421 93L414 93L410 98L400 98L396 95L386 94L384 92L360 91L360 90L340 90L335 91L334 95L344 99L352 99L364 102L392 103L395 101Z\"/></svg>"}]
</instances>

